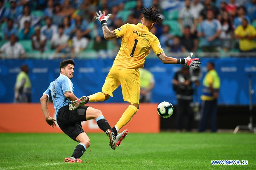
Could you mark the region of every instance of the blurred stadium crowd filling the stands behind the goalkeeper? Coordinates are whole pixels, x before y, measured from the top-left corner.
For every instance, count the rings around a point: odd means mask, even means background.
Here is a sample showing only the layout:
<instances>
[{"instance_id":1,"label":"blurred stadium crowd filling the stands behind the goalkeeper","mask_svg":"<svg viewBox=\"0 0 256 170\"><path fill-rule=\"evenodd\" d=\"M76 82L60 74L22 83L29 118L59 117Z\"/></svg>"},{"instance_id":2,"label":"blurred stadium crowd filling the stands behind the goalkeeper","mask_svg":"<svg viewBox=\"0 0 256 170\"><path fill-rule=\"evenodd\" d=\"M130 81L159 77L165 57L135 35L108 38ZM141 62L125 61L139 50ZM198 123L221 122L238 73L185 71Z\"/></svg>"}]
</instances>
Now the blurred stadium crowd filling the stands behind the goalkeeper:
<instances>
[{"instance_id":1,"label":"blurred stadium crowd filling the stands behind the goalkeeper","mask_svg":"<svg viewBox=\"0 0 256 170\"><path fill-rule=\"evenodd\" d=\"M105 40L95 12L111 13L113 30L140 22L144 7L160 9L151 32L166 52L256 51L256 0L0 0L0 55L115 56L121 38Z\"/></svg>"}]
</instances>

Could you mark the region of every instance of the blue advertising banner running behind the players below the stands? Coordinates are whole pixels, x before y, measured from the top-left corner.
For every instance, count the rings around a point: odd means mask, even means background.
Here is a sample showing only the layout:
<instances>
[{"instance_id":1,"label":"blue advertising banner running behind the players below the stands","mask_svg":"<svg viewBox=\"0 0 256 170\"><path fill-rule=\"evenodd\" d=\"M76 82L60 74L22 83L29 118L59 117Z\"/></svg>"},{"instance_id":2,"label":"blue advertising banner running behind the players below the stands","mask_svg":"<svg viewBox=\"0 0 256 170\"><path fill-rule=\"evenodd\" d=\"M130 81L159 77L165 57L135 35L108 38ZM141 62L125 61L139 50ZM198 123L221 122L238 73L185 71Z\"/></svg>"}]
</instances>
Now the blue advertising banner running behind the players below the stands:
<instances>
[{"instance_id":1,"label":"blue advertising banner running behind the players below the stands","mask_svg":"<svg viewBox=\"0 0 256 170\"><path fill-rule=\"evenodd\" d=\"M40 102L40 97L48 88L50 82L59 76L59 62L61 60L1 60L0 64L0 102L11 103L14 99L14 85L20 66L27 64L30 68L29 77L32 84L32 102ZM249 105L248 77L251 75L252 88L256 89L256 58L203 58L201 59L202 83L207 72L208 61L215 63L216 71L220 76L221 87L219 104ZM77 97L101 92L102 85L113 64L113 59L75 59L75 73L72 78L74 93ZM145 68L155 78L155 87L152 92L152 102L169 101L176 104L172 79L181 65L163 64L159 59L146 59ZM201 95L201 84L197 93ZM252 96L256 104L256 93ZM106 102L123 102L121 87L113 92L113 97Z\"/></svg>"}]
</instances>

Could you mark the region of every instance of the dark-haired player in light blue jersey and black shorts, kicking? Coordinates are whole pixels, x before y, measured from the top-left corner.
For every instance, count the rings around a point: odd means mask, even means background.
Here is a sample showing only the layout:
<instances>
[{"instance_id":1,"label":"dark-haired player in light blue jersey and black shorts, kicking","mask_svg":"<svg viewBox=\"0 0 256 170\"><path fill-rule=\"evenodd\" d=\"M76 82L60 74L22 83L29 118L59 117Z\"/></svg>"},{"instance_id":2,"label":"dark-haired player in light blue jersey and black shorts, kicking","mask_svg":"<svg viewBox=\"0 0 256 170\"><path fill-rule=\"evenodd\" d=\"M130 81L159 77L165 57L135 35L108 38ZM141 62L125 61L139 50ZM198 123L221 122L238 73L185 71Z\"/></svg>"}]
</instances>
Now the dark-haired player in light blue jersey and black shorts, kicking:
<instances>
[{"instance_id":1,"label":"dark-haired player in light blue jersey and black shorts, kicking","mask_svg":"<svg viewBox=\"0 0 256 170\"><path fill-rule=\"evenodd\" d=\"M56 80L50 83L48 89L41 97L41 107L45 116L46 122L54 128L56 121L49 116L47 102L51 97L54 104L56 113L56 119L61 130L66 133L70 138L79 142L75 147L75 150L71 157L65 158L65 162L82 162L79 158L83 155L85 150L90 146L90 139L82 129L81 121L95 119L99 128L104 131L110 138L110 146L115 149L115 141L123 139L126 135L118 135L115 138L115 134L107 133L110 129L108 121L102 115L102 112L98 109L94 109L88 106L81 106L74 111L69 110L69 104L71 101L75 101L78 98L75 96L73 78L75 62L73 59L67 59L60 62L60 75Z\"/></svg>"}]
</instances>

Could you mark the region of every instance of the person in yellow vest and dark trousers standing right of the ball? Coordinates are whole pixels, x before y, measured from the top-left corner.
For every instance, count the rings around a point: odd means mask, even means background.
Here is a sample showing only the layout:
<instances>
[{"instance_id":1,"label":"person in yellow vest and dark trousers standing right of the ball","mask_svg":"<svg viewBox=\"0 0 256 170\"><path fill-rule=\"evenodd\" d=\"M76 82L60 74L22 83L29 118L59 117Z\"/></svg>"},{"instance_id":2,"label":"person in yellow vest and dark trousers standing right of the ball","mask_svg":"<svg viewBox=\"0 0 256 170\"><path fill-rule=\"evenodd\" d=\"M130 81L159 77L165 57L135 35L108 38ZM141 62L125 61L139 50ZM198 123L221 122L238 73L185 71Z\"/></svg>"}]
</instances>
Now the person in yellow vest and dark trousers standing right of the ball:
<instances>
[{"instance_id":1,"label":"person in yellow vest and dark trousers standing right of the ball","mask_svg":"<svg viewBox=\"0 0 256 170\"><path fill-rule=\"evenodd\" d=\"M207 63L207 70L203 79L203 93L201 95L201 119L199 122L199 132L205 131L207 118L210 117L212 132L217 131L216 114L217 114L217 98L220 90L220 78L214 70L214 63Z\"/></svg>"}]
</instances>

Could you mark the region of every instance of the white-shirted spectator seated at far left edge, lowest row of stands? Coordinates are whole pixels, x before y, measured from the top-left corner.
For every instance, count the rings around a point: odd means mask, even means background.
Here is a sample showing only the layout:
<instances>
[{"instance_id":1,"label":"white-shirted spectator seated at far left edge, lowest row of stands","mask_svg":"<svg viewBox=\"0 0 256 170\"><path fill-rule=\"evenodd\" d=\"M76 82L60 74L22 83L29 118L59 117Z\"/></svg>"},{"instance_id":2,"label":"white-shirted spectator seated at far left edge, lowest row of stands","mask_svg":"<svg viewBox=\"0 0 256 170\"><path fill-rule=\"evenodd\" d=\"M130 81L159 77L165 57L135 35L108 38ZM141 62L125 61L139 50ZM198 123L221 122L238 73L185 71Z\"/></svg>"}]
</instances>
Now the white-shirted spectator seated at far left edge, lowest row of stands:
<instances>
[{"instance_id":1,"label":"white-shirted spectator seated at far left edge, lowest row of stands","mask_svg":"<svg viewBox=\"0 0 256 170\"><path fill-rule=\"evenodd\" d=\"M9 42L6 42L3 44L3 46L1 46L0 53L5 53L5 58L7 59L26 57L23 46L17 42L17 37L14 34L11 35Z\"/></svg>"}]
</instances>

